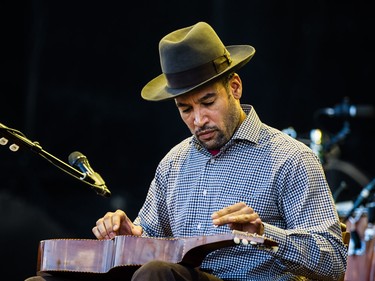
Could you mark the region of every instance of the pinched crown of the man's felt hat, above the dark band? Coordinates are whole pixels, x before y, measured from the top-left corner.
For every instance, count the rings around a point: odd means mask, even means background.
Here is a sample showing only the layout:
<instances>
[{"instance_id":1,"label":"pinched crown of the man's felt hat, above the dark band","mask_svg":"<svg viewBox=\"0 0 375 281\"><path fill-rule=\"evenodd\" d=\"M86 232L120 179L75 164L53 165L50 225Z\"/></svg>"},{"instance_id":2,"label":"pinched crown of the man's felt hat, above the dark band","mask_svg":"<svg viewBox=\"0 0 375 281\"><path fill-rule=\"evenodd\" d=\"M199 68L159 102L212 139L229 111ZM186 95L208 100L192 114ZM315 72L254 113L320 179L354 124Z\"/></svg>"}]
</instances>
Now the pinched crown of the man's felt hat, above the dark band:
<instances>
[{"instance_id":1,"label":"pinched crown of the man's felt hat, above the dark band","mask_svg":"<svg viewBox=\"0 0 375 281\"><path fill-rule=\"evenodd\" d=\"M205 22L178 29L159 42L160 65L165 74L194 69L227 52L216 32Z\"/></svg>"}]
</instances>

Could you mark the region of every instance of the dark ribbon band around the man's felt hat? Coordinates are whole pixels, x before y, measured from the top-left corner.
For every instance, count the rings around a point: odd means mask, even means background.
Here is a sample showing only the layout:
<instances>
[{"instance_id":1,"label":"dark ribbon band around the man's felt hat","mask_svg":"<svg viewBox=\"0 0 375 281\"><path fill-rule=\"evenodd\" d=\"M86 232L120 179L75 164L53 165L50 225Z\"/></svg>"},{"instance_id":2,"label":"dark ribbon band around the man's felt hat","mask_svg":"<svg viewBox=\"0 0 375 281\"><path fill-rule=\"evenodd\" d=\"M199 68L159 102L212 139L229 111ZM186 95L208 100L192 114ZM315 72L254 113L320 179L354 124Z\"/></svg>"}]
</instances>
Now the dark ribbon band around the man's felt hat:
<instances>
[{"instance_id":1,"label":"dark ribbon band around the man's felt hat","mask_svg":"<svg viewBox=\"0 0 375 281\"><path fill-rule=\"evenodd\" d=\"M165 73L169 88L179 89L197 85L223 72L231 64L229 53L193 69L177 73Z\"/></svg>"}]
</instances>

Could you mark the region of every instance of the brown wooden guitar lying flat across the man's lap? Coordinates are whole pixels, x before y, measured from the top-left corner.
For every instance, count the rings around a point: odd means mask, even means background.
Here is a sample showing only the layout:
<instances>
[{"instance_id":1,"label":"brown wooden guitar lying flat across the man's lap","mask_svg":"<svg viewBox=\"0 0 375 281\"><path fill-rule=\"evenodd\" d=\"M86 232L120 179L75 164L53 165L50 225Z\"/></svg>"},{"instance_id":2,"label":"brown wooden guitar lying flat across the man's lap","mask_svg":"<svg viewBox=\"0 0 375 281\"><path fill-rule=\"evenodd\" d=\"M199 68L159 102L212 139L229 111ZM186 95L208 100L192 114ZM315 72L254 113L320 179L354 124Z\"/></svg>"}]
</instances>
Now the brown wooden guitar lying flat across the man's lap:
<instances>
[{"instance_id":1,"label":"brown wooden guitar lying flat across the man's lap","mask_svg":"<svg viewBox=\"0 0 375 281\"><path fill-rule=\"evenodd\" d=\"M186 238L120 235L112 240L50 239L39 243L37 274L75 273L90 278L119 271L132 274L151 260L199 266L207 254L219 248L235 246L239 243L238 239L262 247L277 246L273 240L242 232Z\"/></svg>"}]
</instances>

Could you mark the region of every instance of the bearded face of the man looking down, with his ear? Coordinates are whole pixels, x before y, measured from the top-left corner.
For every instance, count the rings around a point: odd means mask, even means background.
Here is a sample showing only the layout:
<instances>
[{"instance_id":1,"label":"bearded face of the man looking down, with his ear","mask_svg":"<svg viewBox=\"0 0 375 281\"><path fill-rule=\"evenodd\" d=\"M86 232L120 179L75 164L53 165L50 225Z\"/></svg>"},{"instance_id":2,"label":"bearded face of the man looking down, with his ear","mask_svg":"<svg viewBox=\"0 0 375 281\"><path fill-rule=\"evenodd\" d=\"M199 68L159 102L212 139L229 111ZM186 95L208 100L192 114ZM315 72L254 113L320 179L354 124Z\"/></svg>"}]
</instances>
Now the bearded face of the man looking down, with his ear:
<instances>
[{"instance_id":1,"label":"bearded face of the man looking down, with his ear","mask_svg":"<svg viewBox=\"0 0 375 281\"><path fill-rule=\"evenodd\" d=\"M243 120L241 80L231 78L226 89L219 81L175 98L182 120L207 149L219 149Z\"/></svg>"}]
</instances>

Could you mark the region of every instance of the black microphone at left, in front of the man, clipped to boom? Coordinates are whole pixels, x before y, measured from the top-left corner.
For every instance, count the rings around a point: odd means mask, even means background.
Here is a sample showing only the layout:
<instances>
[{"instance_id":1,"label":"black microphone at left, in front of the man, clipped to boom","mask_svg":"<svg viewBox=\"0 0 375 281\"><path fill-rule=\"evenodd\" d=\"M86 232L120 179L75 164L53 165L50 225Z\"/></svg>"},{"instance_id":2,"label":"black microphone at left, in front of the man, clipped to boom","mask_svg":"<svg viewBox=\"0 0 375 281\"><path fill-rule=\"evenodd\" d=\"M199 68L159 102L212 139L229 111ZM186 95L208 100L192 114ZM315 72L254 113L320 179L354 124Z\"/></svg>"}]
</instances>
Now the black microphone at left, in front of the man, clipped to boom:
<instances>
[{"instance_id":1,"label":"black microphone at left, in front of the man, clipped to boom","mask_svg":"<svg viewBox=\"0 0 375 281\"><path fill-rule=\"evenodd\" d=\"M81 152L74 151L69 157L69 164L78 170L80 170L84 175L81 180L88 182L96 191L97 194L110 197L111 192L108 190L103 178L95 172L87 160L87 157Z\"/></svg>"}]
</instances>

